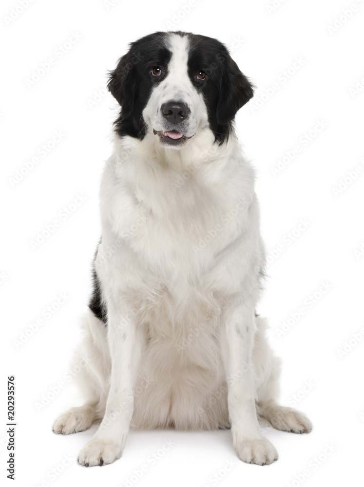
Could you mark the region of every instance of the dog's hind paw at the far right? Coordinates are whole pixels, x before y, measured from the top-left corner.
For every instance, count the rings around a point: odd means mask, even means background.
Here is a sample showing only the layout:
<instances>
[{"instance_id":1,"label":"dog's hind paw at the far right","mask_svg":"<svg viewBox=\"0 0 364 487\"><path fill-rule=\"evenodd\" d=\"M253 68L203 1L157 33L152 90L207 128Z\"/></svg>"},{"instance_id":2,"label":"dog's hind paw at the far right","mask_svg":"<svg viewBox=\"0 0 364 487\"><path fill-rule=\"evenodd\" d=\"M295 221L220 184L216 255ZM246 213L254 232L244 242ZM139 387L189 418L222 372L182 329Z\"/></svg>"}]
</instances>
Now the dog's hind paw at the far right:
<instances>
[{"instance_id":1,"label":"dog's hind paw at the far right","mask_svg":"<svg viewBox=\"0 0 364 487\"><path fill-rule=\"evenodd\" d=\"M291 433L309 433L312 430L312 423L307 416L292 408L274 406L269 410L268 419L276 430Z\"/></svg>"}]
</instances>

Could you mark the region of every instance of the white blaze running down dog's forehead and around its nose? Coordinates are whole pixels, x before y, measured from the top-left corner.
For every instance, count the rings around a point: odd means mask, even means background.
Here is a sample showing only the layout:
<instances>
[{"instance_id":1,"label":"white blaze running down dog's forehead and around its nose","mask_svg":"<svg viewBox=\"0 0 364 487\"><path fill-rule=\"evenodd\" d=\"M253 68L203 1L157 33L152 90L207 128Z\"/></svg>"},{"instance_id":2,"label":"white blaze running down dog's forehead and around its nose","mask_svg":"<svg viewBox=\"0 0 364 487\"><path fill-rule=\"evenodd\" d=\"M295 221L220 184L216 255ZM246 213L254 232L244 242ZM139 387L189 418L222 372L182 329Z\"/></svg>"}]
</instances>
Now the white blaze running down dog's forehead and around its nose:
<instances>
[{"instance_id":1,"label":"white blaze running down dog's forehead and around its nose","mask_svg":"<svg viewBox=\"0 0 364 487\"><path fill-rule=\"evenodd\" d=\"M153 129L155 131L168 130L167 120L162 114L161 107L169 101L182 102L191 111L183 123L183 134L192 137L198 128L208 127L209 122L203 96L197 92L188 75L188 37L171 34L168 49L172 52L168 64L168 75L153 88L150 99L143 110L143 117L149 125L150 131Z\"/></svg>"}]
</instances>

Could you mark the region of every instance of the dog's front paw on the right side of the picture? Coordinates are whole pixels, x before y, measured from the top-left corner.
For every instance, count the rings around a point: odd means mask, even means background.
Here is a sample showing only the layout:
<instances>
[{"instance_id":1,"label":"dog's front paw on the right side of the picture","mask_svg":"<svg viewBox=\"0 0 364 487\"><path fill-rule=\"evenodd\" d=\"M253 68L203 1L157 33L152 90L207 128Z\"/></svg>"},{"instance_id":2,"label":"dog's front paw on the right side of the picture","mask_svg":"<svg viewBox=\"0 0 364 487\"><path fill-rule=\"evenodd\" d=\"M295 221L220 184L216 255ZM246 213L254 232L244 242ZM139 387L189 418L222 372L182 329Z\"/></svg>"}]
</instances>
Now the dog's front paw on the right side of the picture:
<instances>
[{"instance_id":1,"label":"dog's front paw on the right side of the picture","mask_svg":"<svg viewBox=\"0 0 364 487\"><path fill-rule=\"evenodd\" d=\"M240 441L235 450L240 460L246 463L269 465L278 460L277 450L266 438Z\"/></svg>"}]
</instances>

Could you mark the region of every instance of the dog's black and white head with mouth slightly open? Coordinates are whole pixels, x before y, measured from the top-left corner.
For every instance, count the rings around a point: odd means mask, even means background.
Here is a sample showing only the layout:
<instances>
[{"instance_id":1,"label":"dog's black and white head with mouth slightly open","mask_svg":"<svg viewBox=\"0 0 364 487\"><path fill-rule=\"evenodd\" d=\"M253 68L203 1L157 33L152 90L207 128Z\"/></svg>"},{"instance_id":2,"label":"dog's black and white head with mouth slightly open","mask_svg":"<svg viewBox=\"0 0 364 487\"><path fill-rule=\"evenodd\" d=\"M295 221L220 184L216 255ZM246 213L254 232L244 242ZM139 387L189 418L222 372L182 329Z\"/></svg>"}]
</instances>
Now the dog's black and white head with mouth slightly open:
<instances>
[{"instance_id":1,"label":"dog's black and white head with mouth slightly open","mask_svg":"<svg viewBox=\"0 0 364 487\"><path fill-rule=\"evenodd\" d=\"M156 32L133 42L111 72L108 88L121 106L115 130L182 147L202 129L223 142L253 86L211 37Z\"/></svg>"}]
</instances>

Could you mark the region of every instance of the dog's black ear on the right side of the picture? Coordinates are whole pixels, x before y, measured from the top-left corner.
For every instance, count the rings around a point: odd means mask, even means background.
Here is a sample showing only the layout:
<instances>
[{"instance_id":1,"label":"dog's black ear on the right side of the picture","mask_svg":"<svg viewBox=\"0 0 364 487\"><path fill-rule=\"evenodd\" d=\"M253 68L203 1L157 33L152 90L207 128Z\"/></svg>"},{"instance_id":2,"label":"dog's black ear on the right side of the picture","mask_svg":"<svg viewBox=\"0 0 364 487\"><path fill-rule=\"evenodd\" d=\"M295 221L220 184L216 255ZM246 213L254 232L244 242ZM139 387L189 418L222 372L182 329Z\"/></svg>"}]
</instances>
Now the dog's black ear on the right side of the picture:
<instances>
[{"instance_id":1,"label":"dog's black ear on the right side of the picture","mask_svg":"<svg viewBox=\"0 0 364 487\"><path fill-rule=\"evenodd\" d=\"M253 96L252 85L238 68L235 61L225 58L224 74L221 78L220 98L216 117L219 125L225 125L234 118L236 112Z\"/></svg>"}]
</instances>

